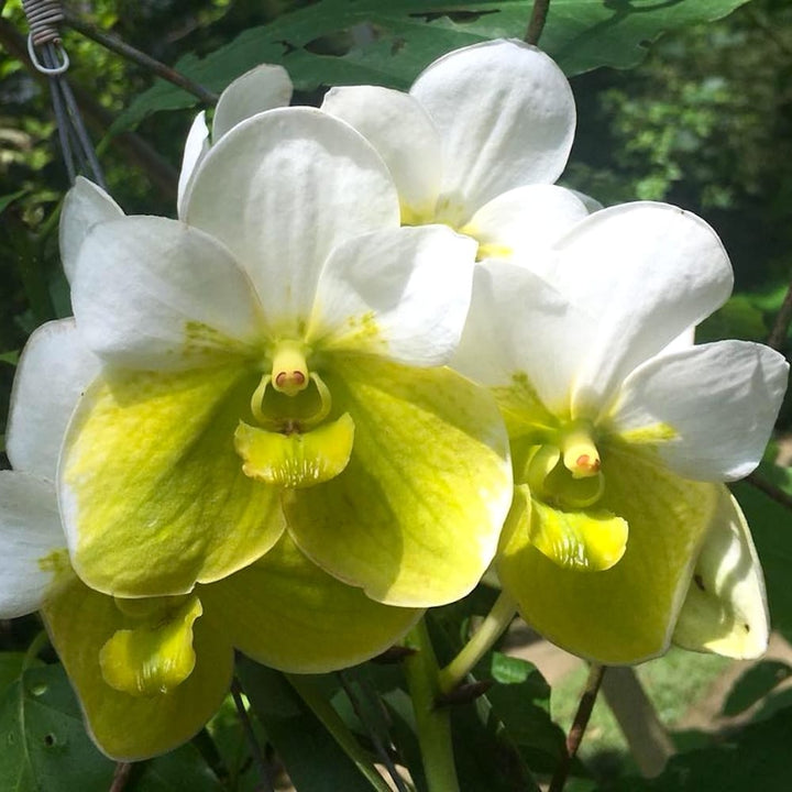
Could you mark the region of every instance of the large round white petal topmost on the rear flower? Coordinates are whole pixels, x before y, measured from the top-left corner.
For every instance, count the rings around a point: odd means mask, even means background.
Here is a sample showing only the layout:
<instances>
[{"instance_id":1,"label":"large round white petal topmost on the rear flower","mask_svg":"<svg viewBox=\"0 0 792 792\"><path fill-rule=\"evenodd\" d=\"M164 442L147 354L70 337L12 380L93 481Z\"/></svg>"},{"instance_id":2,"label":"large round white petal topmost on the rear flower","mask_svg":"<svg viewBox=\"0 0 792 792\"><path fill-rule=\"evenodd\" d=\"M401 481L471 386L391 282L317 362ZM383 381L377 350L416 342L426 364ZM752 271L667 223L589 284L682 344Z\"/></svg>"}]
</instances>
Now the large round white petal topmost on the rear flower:
<instances>
[{"instance_id":1,"label":"large round white petal topmost on the rear flower","mask_svg":"<svg viewBox=\"0 0 792 792\"><path fill-rule=\"evenodd\" d=\"M431 64L410 94L443 143L442 193L469 219L513 187L552 184L574 136L572 90L544 53L517 41L464 47Z\"/></svg>"}]
</instances>

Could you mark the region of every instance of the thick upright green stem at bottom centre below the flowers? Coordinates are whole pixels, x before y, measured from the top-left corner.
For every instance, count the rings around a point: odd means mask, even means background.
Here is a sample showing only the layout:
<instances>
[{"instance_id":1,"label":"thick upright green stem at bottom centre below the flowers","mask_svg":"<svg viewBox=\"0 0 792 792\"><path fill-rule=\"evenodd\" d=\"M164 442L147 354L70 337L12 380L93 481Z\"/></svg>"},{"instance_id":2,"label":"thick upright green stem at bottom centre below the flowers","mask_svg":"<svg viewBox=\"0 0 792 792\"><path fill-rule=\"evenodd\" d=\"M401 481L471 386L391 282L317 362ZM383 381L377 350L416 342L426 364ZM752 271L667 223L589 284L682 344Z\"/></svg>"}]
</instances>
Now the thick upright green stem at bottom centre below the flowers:
<instances>
[{"instance_id":1,"label":"thick upright green stem at bottom centre below the flowers","mask_svg":"<svg viewBox=\"0 0 792 792\"><path fill-rule=\"evenodd\" d=\"M424 619L407 636L407 645L417 650L405 659L404 668L415 710L427 788L429 792L459 792L450 713L436 706L440 693L439 671Z\"/></svg>"}]
</instances>

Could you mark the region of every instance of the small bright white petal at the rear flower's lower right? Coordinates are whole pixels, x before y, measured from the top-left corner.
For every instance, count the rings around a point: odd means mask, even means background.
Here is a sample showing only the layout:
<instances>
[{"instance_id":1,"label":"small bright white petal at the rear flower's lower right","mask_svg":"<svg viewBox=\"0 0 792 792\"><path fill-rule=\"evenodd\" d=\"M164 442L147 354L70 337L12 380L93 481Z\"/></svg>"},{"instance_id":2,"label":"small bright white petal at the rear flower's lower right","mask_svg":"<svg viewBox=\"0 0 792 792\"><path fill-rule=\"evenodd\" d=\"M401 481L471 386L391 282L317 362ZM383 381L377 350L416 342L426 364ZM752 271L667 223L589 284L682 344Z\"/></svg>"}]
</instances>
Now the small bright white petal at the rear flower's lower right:
<instances>
[{"instance_id":1,"label":"small bright white petal at the rear flower's lower right","mask_svg":"<svg viewBox=\"0 0 792 792\"><path fill-rule=\"evenodd\" d=\"M534 268L551 244L587 216L572 190L528 185L486 202L461 231L481 243L479 258L506 258Z\"/></svg>"}]
</instances>

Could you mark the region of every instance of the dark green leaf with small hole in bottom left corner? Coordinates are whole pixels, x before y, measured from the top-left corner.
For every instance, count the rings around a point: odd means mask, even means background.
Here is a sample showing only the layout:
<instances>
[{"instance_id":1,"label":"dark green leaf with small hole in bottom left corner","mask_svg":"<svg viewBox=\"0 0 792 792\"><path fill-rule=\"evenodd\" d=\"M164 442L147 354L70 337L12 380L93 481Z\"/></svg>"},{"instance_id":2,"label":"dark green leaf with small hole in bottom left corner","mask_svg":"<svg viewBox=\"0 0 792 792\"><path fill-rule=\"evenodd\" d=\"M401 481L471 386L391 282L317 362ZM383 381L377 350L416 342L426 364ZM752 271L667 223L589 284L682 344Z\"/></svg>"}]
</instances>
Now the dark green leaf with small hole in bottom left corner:
<instances>
[{"instance_id":1,"label":"dark green leaf with small hole in bottom left corner","mask_svg":"<svg viewBox=\"0 0 792 792\"><path fill-rule=\"evenodd\" d=\"M0 789L106 792L114 762L94 747L61 666L31 668L0 700Z\"/></svg>"}]
</instances>

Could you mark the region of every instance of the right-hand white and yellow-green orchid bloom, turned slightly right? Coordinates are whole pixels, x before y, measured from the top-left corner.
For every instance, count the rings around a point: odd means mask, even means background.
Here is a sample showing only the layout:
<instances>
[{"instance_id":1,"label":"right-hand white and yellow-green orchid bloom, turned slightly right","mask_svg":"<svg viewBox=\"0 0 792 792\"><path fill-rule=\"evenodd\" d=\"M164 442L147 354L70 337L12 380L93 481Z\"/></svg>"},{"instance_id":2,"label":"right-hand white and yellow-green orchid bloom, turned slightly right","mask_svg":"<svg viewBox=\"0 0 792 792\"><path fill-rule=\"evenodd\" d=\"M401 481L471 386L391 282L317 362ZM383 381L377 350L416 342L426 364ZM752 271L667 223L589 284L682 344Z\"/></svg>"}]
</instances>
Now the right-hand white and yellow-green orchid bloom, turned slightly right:
<instances>
[{"instance_id":1,"label":"right-hand white and yellow-green orchid bloom, turned slightly right","mask_svg":"<svg viewBox=\"0 0 792 792\"><path fill-rule=\"evenodd\" d=\"M724 642L760 651L761 572L711 482L757 465L789 366L756 343L668 349L729 295L719 240L674 207L626 205L579 223L538 268L479 267L455 359L493 389L512 439L504 588L550 640L608 664L664 651L689 586L680 642L697 630L714 646L700 628L727 613Z\"/></svg>"}]
</instances>

